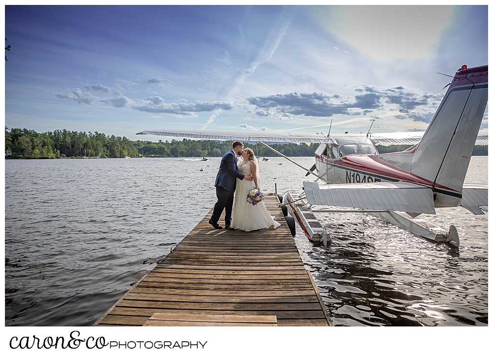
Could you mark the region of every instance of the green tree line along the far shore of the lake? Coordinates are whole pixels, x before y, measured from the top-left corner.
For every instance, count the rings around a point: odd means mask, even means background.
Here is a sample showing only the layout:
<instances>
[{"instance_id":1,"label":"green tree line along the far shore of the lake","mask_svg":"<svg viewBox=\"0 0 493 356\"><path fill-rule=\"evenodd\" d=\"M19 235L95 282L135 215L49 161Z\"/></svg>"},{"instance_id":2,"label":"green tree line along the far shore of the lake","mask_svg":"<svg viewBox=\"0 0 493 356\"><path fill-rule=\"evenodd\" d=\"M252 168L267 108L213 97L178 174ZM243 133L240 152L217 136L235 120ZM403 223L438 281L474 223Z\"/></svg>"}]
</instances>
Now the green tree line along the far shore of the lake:
<instances>
[{"instance_id":1,"label":"green tree line along the far shore of the lake","mask_svg":"<svg viewBox=\"0 0 493 356\"><path fill-rule=\"evenodd\" d=\"M98 131L82 132L66 129L38 133L30 129L5 127L6 158L52 159L63 157L221 157L231 150L233 141L197 141L190 139L158 142L129 140L127 137L106 135ZM288 157L311 157L318 147L301 143L271 144ZM267 147L245 142L258 157L278 156ZM380 153L403 151L409 145L377 145ZM473 156L488 155L488 146L475 146Z\"/></svg>"}]
</instances>

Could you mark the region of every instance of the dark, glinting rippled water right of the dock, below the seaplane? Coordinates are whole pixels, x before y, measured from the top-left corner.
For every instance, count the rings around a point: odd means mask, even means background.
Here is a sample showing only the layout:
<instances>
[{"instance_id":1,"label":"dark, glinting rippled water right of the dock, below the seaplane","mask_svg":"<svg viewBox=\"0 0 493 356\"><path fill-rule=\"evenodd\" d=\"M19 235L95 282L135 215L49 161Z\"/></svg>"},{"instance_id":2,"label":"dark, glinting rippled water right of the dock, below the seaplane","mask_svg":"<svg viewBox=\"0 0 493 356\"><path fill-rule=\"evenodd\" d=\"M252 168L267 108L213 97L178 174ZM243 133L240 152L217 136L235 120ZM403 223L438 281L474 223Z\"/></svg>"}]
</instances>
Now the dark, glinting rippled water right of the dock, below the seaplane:
<instances>
[{"instance_id":1,"label":"dark, glinting rippled water right of the dock, below the seaplane","mask_svg":"<svg viewBox=\"0 0 493 356\"><path fill-rule=\"evenodd\" d=\"M448 210L439 212L443 219ZM483 231L461 235L455 248L372 216L332 215L320 219L333 239L328 248L307 243L301 231L296 239L335 325L488 324L487 217ZM462 215L452 222L477 224Z\"/></svg>"}]
</instances>

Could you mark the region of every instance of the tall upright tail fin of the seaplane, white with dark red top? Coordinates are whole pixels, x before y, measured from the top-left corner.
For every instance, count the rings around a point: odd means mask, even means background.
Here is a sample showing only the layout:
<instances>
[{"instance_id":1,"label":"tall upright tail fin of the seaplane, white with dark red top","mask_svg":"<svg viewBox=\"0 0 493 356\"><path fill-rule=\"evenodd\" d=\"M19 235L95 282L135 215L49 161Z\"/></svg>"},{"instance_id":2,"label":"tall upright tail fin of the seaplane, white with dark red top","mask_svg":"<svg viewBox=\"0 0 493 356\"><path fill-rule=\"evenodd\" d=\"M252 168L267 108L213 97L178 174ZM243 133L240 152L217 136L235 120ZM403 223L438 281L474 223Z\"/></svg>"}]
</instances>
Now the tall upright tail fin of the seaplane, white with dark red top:
<instances>
[{"instance_id":1,"label":"tall upright tail fin of the seaplane, white with dark red top","mask_svg":"<svg viewBox=\"0 0 493 356\"><path fill-rule=\"evenodd\" d=\"M411 173L433 182L435 206L460 201L487 103L488 65L459 69L411 163Z\"/></svg>"}]
</instances>

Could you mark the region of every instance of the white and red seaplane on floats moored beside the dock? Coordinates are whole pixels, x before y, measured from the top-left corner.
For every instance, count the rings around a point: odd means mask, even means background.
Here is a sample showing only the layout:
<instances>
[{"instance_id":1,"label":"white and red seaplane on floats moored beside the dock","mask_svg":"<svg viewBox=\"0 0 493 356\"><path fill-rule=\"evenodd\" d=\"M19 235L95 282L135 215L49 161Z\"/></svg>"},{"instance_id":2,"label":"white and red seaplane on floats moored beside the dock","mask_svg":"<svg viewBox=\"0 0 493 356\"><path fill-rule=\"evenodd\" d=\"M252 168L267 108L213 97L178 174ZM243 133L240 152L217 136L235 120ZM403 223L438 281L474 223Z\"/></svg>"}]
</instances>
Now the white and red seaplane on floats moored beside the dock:
<instances>
[{"instance_id":1,"label":"white and red seaplane on floats moored beside the dock","mask_svg":"<svg viewBox=\"0 0 493 356\"><path fill-rule=\"evenodd\" d=\"M137 134L258 142L306 170L306 176L317 177L303 182L303 192L278 195L293 235L296 220L309 239L327 245L330 234L314 213L367 213L426 239L458 247L455 226L446 231L418 217L436 214L435 208L443 207L462 206L475 215L488 212L488 186L464 184L476 141L488 140L488 132L480 131L487 103L488 65L463 65L421 133L371 134L368 130L367 134L331 136L145 130ZM315 163L303 167L265 142L319 143ZM412 146L403 152L379 154L378 144Z\"/></svg>"}]
</instances>

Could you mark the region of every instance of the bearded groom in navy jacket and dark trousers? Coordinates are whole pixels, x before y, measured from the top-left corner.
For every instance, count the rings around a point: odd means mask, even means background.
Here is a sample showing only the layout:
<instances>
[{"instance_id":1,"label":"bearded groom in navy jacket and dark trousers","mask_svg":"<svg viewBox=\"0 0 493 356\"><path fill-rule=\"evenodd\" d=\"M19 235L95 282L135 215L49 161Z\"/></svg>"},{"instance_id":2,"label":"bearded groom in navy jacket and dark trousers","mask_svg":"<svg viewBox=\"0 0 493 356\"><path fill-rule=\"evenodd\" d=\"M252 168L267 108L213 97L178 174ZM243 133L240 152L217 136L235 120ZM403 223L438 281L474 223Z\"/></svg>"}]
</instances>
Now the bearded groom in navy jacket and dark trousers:
<instances>
[{"instance_id":1,"label":"bearded groom in navy jacket and dark trousers","mask_svg":"<svg viewBox=\"0 0 493 356\"><path fill-rule=\"evenodd\" d=\"M214 211L212 212L211 224L214 228L222 228L217 222L221 217L222 211L226 208L225 223L226 228L234 230L231 227L231 212L233 210L233 197L236 189L236 178L247 181L253 180L252 176L242 174L238 171L236 166L236 156L240 156L243 152L243 143L240 141L233 142L233 149L222 157L221 164L219 165L219 171L217 172L216 181L214 186L216 187L217 203L214 205Z\"/></svg>"}]
</instances>

